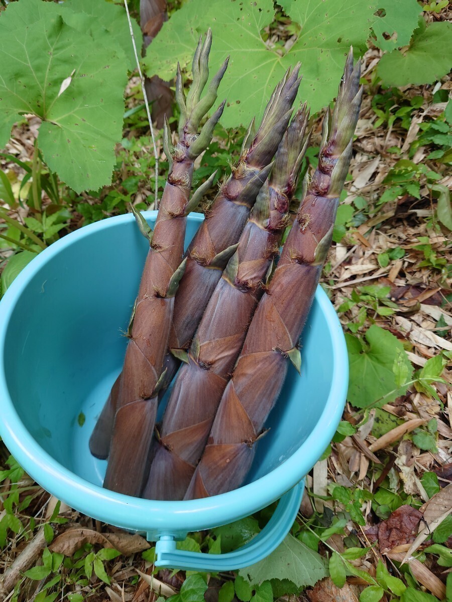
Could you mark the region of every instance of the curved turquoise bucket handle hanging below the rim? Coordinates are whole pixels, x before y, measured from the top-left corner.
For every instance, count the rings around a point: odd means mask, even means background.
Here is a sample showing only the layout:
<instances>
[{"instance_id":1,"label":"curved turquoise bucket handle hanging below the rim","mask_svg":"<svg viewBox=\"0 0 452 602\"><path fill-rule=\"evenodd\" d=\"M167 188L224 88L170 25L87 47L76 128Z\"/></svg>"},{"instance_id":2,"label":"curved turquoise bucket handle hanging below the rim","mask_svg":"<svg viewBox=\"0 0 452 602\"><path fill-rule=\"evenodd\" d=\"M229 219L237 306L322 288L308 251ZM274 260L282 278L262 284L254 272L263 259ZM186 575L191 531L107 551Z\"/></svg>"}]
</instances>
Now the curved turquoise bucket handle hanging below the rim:
<instances>
[{"instance_id":1,"label":"curved turquoise bucket handle hanging below the rim","mask_svg":"<svg viewBox=\"0 0 452 602\"><path fill-rule=\"evenodd\" d=\"M272 553L286 537L297 518L303 496L304 480L281 497L266 526L251 541L226 554L206 554L177 550L173 535L161 535L155 544L155 566L202 573L233 571L251 566Z\"/></svg>"}]
</instances>

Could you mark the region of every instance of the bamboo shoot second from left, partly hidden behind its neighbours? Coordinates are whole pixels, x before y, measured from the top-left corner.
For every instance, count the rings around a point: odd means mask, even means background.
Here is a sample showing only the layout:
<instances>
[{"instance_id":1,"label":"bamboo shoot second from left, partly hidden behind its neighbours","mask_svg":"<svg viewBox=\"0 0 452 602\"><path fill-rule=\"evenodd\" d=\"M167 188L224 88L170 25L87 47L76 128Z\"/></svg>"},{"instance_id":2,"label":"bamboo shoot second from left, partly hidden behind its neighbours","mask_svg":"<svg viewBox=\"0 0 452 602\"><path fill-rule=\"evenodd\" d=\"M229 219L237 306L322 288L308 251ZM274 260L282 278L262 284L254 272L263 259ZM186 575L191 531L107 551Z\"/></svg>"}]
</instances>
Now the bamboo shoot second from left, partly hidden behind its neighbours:
<instances>
[{"instance_id":1,"label":"bamboo shoot second from left, partly hidden behind its neighbours","mask_svg":"<svg viewBox=\"0 0 452 602\"><path fill-rule=\"evenodd\" d=\"M254 120L243 140L240 159L216 196L206 219L187 249L187 265L174 303L169 349L165 358L165 383L169 385L196 332L207 303L235 250L257 193L268 176L278 144L289 123L291 107L301 78L300 65L287 71L266 106L254 135Z\"/></svg>"}]
</instances>

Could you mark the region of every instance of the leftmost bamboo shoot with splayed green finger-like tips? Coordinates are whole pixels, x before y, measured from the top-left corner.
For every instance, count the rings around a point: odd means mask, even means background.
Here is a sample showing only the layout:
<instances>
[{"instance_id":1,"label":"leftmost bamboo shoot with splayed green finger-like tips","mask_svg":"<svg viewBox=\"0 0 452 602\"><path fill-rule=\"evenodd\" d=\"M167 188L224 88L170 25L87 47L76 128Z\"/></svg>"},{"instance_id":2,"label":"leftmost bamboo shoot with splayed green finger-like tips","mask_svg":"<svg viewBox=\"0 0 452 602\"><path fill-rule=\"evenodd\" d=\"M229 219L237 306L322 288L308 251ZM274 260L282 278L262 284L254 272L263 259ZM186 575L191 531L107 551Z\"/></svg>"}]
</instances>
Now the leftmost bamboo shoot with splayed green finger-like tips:
<instances>
[{"instance_id":1,"label":"leftmost bamboo shoot with splayed green finger-like tips","mask_svg":"<svg viewBox=\"0 0 452 602\"><path fill-rule=\"evenodd\" d=\"M211 43L209 30L204 44L199 40L193 58L193 82L186 100L180 69L177 72L176 94L181 111L179 143L170 149L171 134L166 122L163 144L169 161L169 175L153 232L143 217L134 211L142 234L149 239L149 253L128 331L130 341L121 382L115 383L110 396L111 403L116 405L116 413L104 480L105 488L129 495L139 495L143 477L147 474L146 459L154 430L174 296L186 263L181 260L187 214L198 205L213 181L212 176L189 200L193 163L212 140L213 128L225 105L223 102L198 132L199 122L215 102L219 82L227 67L225 61L201 98L209 77ZM110 409L105 412L111 414Z\"/></svg>"}]
</instances>

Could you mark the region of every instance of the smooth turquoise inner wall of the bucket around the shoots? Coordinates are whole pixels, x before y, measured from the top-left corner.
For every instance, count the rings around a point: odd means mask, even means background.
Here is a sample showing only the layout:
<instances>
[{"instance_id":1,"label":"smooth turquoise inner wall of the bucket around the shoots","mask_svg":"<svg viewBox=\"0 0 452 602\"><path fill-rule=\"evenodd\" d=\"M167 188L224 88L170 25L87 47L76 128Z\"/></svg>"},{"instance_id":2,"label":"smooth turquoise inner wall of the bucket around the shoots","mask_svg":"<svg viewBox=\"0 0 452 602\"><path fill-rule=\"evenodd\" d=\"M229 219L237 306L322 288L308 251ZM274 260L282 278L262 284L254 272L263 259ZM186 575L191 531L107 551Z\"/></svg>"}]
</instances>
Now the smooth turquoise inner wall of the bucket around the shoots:
<instances>
[{"instance_id":1,"label":"smooth turquoise inner wall of the bucket around the shoots","mask_svg":"<svg viewBox=\"0 0 452 602\"><path fill-rule=\"evenodd\" d=\"M186 241L199 220L187 222ZM8 326L5 373L14 406L56 461L101 485L106 462L88 441L121 371L148 243L133 220L111 220L53 255L20 296ZM333 349L314 303L303 333L302 376L289 373L249 480L277 467L318 422L331 387ZM160 408L160 414L163 406Z\"/></svg>"}]
</instances>

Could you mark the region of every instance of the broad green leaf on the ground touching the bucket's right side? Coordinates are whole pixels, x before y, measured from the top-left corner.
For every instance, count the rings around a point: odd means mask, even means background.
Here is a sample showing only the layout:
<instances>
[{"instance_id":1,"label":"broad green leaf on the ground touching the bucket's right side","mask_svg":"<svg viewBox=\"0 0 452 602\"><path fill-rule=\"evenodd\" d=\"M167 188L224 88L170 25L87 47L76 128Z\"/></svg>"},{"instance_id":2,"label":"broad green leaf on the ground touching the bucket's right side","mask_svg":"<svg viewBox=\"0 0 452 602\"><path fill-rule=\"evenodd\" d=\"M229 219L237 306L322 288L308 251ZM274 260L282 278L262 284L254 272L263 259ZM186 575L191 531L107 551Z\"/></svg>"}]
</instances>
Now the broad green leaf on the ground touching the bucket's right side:
<instances>
[{"instance_id":1,"label":"broad green leaf on the ground touching the bucket's right side","mask_svg":"<svg viewBox=\"0 0 452 602\"><path fill-rule=\"evenodd\" d=\"M358 338L345 335L350 364L347 399L356 408L368 408L378 400L392 402L407 389L404 383L399 386L398 374L403 371L408 382L413 373L403 345L391 332L374 324L365 338L367 348Z\"/></svg>"}]
</instances>

